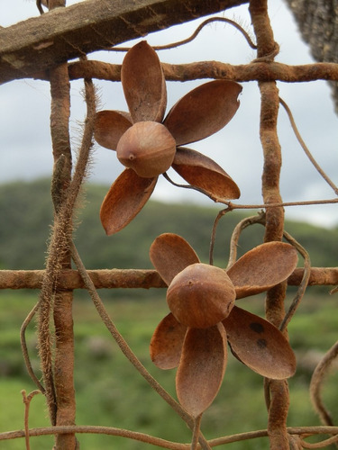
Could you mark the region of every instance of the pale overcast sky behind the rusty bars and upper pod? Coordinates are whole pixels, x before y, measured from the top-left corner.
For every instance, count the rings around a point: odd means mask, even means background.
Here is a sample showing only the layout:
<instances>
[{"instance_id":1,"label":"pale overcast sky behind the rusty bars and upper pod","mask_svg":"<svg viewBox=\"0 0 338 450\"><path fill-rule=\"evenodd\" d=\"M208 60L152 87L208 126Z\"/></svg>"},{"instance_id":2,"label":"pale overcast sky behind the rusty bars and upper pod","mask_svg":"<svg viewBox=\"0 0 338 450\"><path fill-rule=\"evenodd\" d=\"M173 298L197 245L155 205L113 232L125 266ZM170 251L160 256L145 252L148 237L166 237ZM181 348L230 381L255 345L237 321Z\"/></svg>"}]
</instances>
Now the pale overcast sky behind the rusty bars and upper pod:
<instances>
[{"instance_id":1,"label":"pale overcast sky behind the rusty bars and upper pod","mask_svg":"<svg viewBox=\"0 0 338 450\"><path fill-rule=\"evenodd\" d=\"M78 3L76 1L68 4ZM0 0L0 25L9 26L38 15L35 1ZM224 14L251 30L247 5L233 8ZM300 39L296 23L282 0L270 2L269 15L279 42L277 61L287 64L313 62L309 49ZM186 38L198 23L187 23L166 31L150 34L151 45L160 45ZM133 42L132 42L133 43ZM132 43L129 43L132 45ZM215 23L206 26L198 38L186 46L159 52L163 62L192 62L219 60L232 64L247 64L255 53L247 45L239 31L230 25ZM91 59L120 63L121 53L96 52ZM169 82L168 109L179 97L203 81ZM100 109L126 110L120 83L96 82L99 90ZM240 186L241 203L261 203L260 176L262 151L259 139L260 94L257 83L242 84L241 106L233 120L214 136L191 148L202 151L224 167ZM280 96L288 103L297 122L298 130L324 171L338 184L338 118L333 111L333 101L324 81L312 83L278 83ZM83 121L85 109L82 100L82 83L72 82L71 132L74 148L79 139L78 121ZM0 85L0 183L13 180L31 180L50 176L52 157L50 149L50 91L49 84L32 79ZM291 130L288 118L281 108L279 113L279 140L283 152L281 193L285 202L333 198L332 188L325 184L315 168L307 160ZM96 146L90 180L111 184L123 170L114 152ZM153 198L166 202L204 202L200 193L171 186L161 180ZM220 206L221 209L222 206ZM338 206L290 207L287 218L309 220L324 226L338 224Z\"/></svg>"}]
</instances>

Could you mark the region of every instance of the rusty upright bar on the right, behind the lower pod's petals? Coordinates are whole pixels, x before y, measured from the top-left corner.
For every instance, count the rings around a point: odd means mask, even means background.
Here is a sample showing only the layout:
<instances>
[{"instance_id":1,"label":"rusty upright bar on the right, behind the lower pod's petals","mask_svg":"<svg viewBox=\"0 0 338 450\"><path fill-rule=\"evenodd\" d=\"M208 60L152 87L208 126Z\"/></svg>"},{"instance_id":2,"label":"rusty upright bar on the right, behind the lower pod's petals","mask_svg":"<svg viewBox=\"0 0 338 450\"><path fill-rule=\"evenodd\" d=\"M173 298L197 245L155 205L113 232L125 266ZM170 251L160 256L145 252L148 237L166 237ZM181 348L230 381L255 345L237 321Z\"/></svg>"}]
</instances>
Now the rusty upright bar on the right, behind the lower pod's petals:
<instances>
[{"instance_id":1,"label":"rusty upright bar on the right, behind the lower pod's petals","mask_svg":"<svg viewBox=\"0 0 338 450\"><path fill-rule=\"evenodd\" d=\"M269 22L267 0L251 0L251 22L257 39L257 61L273 61L279 46L273 37ZM277 134L279 91L275 81L259 82L260 87L260 142L263 149L262 195L265 203L282 202L279 193L281 150ZM284 210L281 207L266 211L265 242L281 240L284 229ZM267 319L279 327L285 316L284 300L287 284L278 284L266 297ZM268 434L271 450L288 450L287 417L289 406L288 382L267 380L269 391Z\"/></svg>"}]
</instances>

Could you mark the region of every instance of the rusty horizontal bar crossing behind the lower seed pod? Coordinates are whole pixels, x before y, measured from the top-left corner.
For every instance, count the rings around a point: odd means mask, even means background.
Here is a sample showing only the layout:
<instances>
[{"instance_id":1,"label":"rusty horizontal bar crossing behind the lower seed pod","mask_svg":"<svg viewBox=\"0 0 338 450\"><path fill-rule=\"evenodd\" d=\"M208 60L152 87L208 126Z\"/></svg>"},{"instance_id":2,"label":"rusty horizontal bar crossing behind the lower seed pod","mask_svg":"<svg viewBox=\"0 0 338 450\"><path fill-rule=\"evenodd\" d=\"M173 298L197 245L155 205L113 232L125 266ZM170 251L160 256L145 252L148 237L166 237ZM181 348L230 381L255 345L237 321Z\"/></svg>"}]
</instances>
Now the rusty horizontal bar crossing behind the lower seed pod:
<instances>
[{"instance_id":1,"label":"rusty horizontal bar crossing behind the lower seed pod","mask_svg":"<svg viewBox=\"0 0 338 450\"><path fill-rule=\"evenodd\" d=\"M40 289L44 270L0 270L0 289ZM150 289L166 287L156 270L151 269L101 269L88 270L96 289ZM304 275L297 268L288 278L288 284L297 286ZM338 267L312 267L309 285L338 284ZM77 270L67 269L60 273L58 289L84 289L85 285Z\"/></svg>"}]
</instances>

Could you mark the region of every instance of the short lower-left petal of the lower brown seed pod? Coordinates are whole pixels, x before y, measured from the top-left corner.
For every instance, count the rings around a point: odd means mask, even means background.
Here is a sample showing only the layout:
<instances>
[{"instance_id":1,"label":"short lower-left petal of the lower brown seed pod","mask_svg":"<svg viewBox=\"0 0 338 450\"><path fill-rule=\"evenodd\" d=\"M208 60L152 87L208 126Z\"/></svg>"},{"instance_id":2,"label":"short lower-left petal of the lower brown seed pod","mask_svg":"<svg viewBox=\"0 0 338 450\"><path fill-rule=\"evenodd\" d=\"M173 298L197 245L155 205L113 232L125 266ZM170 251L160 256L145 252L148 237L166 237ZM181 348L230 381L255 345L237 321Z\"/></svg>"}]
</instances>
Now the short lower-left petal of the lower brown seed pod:
<instances>
[{"instance_id":1,"label":"short lower-left petal of the lower brown seed pod","mask_svg":"<svg viewBox=\"0 0 338 450\"><path fill-rule=\"evenodd\" d=\"M151 338L151 361L160 369L173 369L179 364L187 327L171 312L160 321Z\"/></svg>"}]
</instances>

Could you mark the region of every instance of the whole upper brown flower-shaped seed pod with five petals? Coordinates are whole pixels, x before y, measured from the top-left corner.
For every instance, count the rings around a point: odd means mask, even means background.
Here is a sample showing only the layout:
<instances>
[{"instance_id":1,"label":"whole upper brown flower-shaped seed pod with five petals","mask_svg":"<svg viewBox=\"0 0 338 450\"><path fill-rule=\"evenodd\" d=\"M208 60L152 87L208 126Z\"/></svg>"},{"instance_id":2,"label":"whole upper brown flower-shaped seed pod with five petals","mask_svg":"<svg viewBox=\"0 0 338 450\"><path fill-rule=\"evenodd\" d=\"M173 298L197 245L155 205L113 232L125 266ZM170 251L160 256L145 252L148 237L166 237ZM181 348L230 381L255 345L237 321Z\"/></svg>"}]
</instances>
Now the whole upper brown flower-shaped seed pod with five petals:
<instances>
[{"instance_id":1,"label":"whole upper brown flower-shaped seed pod with five petals","mask_svg":"<svg viewBox=\"0 0 338 450\"><path fill-rule=\"evenodd\" d=\"M145 40L125 55L121 82L129 112L100 111L95 123L98 144L116 150L127 167L102 204L100 218L108 235L123 229L142 210L157 178L170 166L215 202L240 196L237 184L215 161L179 146L206 139L231 121L240 105L241 85L214 80L197 86L165 117L165 77L156 51Z\"/></svg>"}]
</instances>

